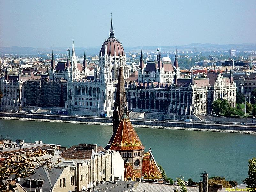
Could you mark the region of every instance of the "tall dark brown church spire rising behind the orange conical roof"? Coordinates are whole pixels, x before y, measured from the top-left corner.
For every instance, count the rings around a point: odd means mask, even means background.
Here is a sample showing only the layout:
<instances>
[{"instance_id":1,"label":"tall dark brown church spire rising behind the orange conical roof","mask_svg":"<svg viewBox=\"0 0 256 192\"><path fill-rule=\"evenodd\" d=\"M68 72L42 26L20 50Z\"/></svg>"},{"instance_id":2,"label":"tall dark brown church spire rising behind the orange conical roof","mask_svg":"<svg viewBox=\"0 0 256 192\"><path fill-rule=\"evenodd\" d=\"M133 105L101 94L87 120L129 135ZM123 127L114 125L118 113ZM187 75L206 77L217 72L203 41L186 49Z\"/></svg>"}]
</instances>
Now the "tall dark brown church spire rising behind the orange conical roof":
<instances>
[{"instance_id":1,"label":"tall dark brown church spire rising behind the orange conical roof","mask_svg":"<svg viewBox=\"0 0 256 192\"><path fill-rule=\"evenodd\" d=\"M128 116L128 106L127 100L125 96L125 88L124 88L124 72L123 66L120 61L119 73L118 73L118 81L117 81L117 93L116 93L116 101L115 101L115 109L113 111L113 132L118 128L120 123L120 119L124 113ZM126 110L127 109L127 110Z\"/></svg>"}]
</instances>

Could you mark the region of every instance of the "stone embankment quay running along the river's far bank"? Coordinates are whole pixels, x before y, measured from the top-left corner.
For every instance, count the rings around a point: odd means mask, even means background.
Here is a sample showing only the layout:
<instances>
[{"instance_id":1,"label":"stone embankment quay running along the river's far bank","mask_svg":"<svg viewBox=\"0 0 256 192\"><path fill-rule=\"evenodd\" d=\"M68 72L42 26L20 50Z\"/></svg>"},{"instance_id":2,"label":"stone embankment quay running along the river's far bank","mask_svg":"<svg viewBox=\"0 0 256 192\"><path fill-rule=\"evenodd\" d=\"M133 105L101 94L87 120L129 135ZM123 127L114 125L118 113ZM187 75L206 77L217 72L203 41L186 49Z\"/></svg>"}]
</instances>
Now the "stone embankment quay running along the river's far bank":
<instances>
[{"instance_id":1,"label":"stone embankment quay running along the river's far bank","mask_svg":"<svg viewBox=\"0 0 256 192\"><path fill-rule=\"evenodd\" d=\"M1 112L1 119L27 120L27 121L44 121L44 122L66 122L66 123L83 123L96 125L112 125L112 118L109 117L92 117L92 116L69 116L69 115L52 115L52 114L25 114ZM254 125L233 125L233 124L216 124L215 122L177 122L177 121L154 121L152 119L132 119L134 127L159 128L159 129L179 129L195 131L214 131L214 132L233 132L256 134Z\"/></svg>"}]
</instances>

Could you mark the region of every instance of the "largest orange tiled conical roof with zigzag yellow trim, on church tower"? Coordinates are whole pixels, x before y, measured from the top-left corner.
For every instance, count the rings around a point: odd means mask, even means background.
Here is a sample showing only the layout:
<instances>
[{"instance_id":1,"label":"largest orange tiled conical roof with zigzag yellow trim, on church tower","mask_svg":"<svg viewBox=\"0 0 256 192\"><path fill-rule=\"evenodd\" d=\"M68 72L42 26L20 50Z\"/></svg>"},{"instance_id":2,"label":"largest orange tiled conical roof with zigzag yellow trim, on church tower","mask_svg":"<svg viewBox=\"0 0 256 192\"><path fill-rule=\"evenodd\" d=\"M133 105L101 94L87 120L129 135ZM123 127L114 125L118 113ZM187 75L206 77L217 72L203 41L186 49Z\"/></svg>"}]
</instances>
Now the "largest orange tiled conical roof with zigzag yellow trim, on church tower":
<instances>
[{"instance_id":1,"label":"largest orange tiled conical roof with zigzag yellow trim, on church tower","mask_svg":"<svg viewBox=\"0 0 256 192\"><path fill-rule=\"evenodd\" d=\"M129 151L145 149L125 113L109 142L111 144L109 150Z\"/></svg>"}]
</instances>

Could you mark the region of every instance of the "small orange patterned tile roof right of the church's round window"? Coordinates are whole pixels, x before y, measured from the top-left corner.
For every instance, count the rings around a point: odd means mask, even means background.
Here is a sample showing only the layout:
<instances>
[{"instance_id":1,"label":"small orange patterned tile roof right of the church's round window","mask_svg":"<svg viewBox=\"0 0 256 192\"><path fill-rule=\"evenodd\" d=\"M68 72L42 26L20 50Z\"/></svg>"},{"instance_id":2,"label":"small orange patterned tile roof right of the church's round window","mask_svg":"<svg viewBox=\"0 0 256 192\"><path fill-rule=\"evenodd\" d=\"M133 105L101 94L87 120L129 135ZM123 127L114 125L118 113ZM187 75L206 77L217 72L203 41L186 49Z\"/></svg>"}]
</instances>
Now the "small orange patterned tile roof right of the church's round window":
<instances>
[{"instance_id":1,"label":"small orange patterned tile roof right of the church's round window","mask_svg":"<svg viewBox=\"0 0 256 192\"><path fill-rule=\"evenodd\" d=\"M142 176L144 176L144 179L162 179L159 167L156 165L154 157L150 152L144 153L142 160Z\"/></svg>"}]
</instances>

